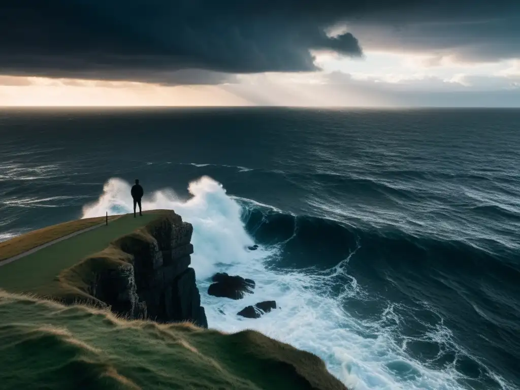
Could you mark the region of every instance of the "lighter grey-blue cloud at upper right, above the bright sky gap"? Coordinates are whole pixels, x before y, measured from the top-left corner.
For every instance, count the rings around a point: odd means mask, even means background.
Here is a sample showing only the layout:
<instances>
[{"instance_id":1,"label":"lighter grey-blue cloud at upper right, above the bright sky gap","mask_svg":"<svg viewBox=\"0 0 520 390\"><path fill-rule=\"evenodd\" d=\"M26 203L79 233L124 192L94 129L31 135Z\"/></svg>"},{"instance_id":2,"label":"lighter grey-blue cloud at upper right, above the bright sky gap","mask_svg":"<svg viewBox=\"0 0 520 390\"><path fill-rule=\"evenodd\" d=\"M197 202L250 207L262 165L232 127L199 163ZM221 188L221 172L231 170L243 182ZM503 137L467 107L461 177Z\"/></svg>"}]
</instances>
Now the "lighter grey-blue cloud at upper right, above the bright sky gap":
<instances>
[{"instance_id":1,"label":"lighter grey-blue cloud at upper right, above the bright sky gap","mask_svg":"<svg viewBox=\"0 0 520 390\"><path fill-rule=\"evenodd\" d=\"M434 53L437 57L432 59L431 66L440 64L442 56L467 62L492 62L520 57L518 4L511 7L511 15L497 13L471 19L470 14L457 20L435 21L432 17L431 21L399 23L356 21L349 23L349 30L367 49Z\"/></svg>"}]
</instances>

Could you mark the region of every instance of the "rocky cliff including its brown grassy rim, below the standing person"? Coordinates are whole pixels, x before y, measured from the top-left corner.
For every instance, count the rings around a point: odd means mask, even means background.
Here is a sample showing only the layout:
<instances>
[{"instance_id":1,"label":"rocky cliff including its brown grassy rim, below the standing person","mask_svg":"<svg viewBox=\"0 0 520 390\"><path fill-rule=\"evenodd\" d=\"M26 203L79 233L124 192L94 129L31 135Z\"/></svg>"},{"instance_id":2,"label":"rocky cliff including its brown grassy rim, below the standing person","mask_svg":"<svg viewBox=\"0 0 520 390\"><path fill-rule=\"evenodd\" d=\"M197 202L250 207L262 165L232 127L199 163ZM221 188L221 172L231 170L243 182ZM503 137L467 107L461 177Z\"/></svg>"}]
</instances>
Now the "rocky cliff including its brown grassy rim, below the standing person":
<instances>
[{"instance_id":1,"label":"rocky cliff including its brown grassy rim, below the standing person","mask_svg":"<svg viewBox=\"0 0 520 390\"><path fill-rule=\"evenodd\" d=\"M108 305L129 319L190 321L207 328L190 268L193 227L168 211L64 270L61 298Z\"/></svg>"}]
</instances>

